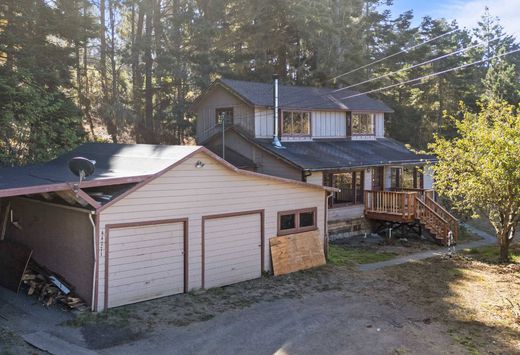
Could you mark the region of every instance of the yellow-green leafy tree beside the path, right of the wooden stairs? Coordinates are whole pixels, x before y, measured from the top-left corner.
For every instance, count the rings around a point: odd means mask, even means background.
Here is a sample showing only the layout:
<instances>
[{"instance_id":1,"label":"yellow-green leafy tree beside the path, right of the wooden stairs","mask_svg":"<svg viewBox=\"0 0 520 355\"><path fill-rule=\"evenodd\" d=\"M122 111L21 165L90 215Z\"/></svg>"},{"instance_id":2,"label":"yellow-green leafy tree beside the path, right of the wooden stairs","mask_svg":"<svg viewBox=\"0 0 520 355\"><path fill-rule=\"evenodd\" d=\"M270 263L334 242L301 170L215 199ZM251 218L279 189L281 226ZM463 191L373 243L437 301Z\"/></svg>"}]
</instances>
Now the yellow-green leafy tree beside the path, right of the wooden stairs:
<instances>
[{"instance_id":1,"label":"yellow-green leafy tree beside the path, right of the wooden stairs","mask_svg":"<svg viewBox=\"0 0 520 355\"><path fill-rule=\"evenodd\" d=\"M435 189L457 210L489 218L505 262L520 222L520 105L491 101L479 107L478 113L461 107L458 137L436 135L430 144L439 160L432 166Z\"/></svg>"}]
</instances>

